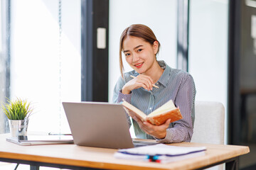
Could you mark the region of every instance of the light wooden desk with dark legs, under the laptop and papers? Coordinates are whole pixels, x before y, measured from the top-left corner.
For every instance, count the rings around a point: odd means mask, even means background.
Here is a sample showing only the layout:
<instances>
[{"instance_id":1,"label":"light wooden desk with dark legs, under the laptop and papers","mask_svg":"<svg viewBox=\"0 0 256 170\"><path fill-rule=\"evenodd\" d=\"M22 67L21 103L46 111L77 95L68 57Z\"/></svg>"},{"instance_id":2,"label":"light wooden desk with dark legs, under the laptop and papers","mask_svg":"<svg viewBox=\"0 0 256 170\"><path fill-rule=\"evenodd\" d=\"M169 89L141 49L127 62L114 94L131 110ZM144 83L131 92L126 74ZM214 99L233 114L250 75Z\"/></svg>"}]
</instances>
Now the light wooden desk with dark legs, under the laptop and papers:
<instances>
[{"instance_id":1,"label":"light wooden desk with dark legs, under the laptop and papers","mask_svg":"<svg viewBox=\"0 0 256 170\"><path fill-rule=\"evenodd\" d=\"M206 147L206 155L181 162L159 164L113 157L117 149L79 147L77 145L19 146L6 142L9 134L0 135L0 161L52 166L68 169L203 169L224 162L238 162L238 157L247 154L249 147L234 145L211 145L201 143L176 143L174 146ZM238 169L238 164L236 169ZM232 166L233 166L232 165ZM33 169L33 168L31 168Z\"/></svg>"}]
</instances>

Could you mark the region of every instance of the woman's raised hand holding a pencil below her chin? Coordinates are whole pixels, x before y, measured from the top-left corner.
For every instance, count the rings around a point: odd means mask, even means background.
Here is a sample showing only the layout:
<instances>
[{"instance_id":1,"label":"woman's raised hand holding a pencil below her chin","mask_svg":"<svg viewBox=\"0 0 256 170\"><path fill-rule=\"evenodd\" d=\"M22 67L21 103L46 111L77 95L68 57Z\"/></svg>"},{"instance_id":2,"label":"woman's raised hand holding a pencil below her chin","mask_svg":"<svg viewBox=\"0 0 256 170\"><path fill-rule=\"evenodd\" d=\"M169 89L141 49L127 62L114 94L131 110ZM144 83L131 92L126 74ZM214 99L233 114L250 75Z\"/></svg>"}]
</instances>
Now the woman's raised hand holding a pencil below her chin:
<instances>
[{"instance_id":1,"label":"woman's raised hand holding a pencil below her chin","mask_svg":"<svg viewBox=\"0 0 256 170\"><path fill-rule=\"evenodd\" d=\"M143 87L144 89L150 91L153 89L153 81L149 76L139 74L139 76L131 79L124 84L122 88L122 94L129 94L133 89L139 89Z\"/></svg>"}]
</instances>

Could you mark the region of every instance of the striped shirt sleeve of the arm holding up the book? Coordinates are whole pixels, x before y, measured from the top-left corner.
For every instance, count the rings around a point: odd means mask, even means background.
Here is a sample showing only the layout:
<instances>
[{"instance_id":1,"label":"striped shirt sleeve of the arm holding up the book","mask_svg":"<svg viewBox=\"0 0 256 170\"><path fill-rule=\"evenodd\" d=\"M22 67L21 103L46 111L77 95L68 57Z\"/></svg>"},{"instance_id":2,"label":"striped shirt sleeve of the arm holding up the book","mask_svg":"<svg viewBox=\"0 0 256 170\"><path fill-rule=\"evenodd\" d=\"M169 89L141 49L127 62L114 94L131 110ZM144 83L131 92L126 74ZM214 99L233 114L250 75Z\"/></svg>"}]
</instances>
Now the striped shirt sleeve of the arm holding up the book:
<instances>
[{"instance_id":1,"label":"striped shirt sleeve of the arm holding up the book","mask_svg":"<svg viewBox=\"0 0 256 170\"><path fill-rule=\"evenodd\" d=\"M182 81L182 80L181 80ZM190 74L180 85L180 89L176 95L174 103L181 110L183 119L174 122L173 128L166 130L164 139L156 139L162 143L171 142L190 142L193 135L194 103L196 96L196 87Z\"/></svg>"}]
</instances>

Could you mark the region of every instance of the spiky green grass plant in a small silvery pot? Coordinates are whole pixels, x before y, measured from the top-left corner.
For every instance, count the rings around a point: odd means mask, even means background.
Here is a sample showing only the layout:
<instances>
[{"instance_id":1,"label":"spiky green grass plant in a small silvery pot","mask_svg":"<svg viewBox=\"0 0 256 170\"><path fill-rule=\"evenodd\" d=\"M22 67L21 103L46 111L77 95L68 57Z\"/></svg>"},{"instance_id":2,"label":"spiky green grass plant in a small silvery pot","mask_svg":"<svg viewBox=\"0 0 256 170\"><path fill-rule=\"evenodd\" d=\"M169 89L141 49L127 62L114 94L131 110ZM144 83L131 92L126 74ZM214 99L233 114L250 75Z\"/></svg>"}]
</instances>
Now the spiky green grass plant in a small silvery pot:
<instances>
[{"instance_id":1,"label":"spiky green grass plant in a small silvery pot","mask_svg":"<svg viewBox=\"0 0 256 170\"><path fill-rule=\"evenodd\" d=\"M7 98L7 103L2 104L1 108L9 118L11 137L25 136L28 129L28 118L33 111L31 103L20 98L16 98L14 101Z\"/></svg>"}]
</instances>

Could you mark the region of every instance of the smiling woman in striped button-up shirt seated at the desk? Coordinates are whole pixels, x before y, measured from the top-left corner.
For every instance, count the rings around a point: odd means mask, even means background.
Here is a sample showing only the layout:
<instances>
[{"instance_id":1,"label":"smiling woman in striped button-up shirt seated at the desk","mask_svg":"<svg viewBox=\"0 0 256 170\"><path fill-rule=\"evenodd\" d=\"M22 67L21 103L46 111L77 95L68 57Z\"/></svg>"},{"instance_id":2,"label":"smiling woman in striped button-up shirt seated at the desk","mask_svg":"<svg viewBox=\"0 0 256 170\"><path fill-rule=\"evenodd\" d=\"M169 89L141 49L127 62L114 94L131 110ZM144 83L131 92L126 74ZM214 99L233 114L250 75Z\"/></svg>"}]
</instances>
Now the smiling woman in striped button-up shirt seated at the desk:
<instances>
[{"instance_id":1,"label":"smiling woman in striped button-up shirt seated at the desk","mask_svg":"<svg viewBox=\"0 0 256 170\"><path fill-rule=\"evenodd\" d=\"M124 30L119 47L122 77L114 87L113 101L119 103L125 100L148 115L172 99L180 108L182 120L170 124L169 119L163 125L156 126L134 117L135 135L163 143L190 142L196 96L193 78L187 72L172 69L164 61L157 61L159 47L159 41L147 26L134 24ZM123 74L122 52L129 66L134 69L132 72ZM159 86L159 89L153 84Z\"/></svg>"}]
</instances>

